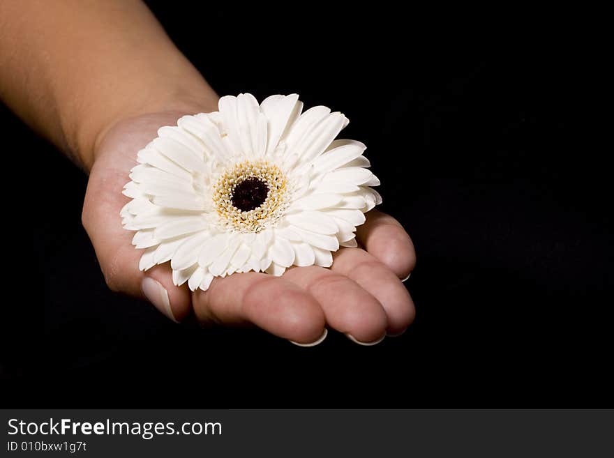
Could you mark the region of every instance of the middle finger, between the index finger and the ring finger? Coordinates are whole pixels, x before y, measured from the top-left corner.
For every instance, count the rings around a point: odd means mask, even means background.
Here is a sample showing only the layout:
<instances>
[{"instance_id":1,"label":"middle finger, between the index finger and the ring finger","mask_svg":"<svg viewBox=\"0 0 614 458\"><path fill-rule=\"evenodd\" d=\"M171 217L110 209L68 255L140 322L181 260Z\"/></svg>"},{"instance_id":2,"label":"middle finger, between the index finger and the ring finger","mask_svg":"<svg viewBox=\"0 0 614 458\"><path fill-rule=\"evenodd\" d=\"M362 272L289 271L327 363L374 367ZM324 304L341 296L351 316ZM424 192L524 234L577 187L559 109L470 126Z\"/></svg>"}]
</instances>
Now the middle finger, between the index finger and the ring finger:
<instances>
[{"instance_id":1,"label":"middle finger, between the index finger and the ring finger","mask_svg":"<svg viewBox=\"0 0 614 458\"><path fill-rule=\"evenodd\" d=\"M291 268L283 278L313 295L331 328L359 342L374 342L386 332L387 317L382 305L345 275L309 266Z\"/></svg>"}]
</instances>

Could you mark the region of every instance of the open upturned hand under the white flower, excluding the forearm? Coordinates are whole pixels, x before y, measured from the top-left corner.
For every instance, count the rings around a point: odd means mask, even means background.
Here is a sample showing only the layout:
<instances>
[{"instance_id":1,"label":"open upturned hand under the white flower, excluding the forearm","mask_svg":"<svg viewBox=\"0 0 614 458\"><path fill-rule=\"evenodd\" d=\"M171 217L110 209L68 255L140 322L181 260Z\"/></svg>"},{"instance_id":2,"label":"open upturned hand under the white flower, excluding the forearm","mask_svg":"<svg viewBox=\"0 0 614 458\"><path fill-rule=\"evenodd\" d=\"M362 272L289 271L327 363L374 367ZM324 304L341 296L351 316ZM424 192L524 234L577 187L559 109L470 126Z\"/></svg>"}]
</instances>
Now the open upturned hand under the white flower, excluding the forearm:
<instances>
[{"instance_id":1,"label":"open upturned hand under the white flower, excluding the forearm","mask_svg":"<svg viewBox=\"0 0 614 458\"><path fill-rule=\"evenodd\" d=\"M317 341L325 327L368 343L409 326L414 305L399 279L414 267L414 247L394 218L375 210L357 231L364 249L341 248L330 269L293 267L281 277L235 273L195 292L186 284L174 286L170 263L141 272L142 250L131 244L133 232L121 227L119 211L128 201L121 190L137 163L137 151L156 137L160 126L174 125L183 114L126 119L97 142L82 221L110 289L148 299L174 321L193 312L202 323L253 323L299 344Z\"/></svg>"}]
</instances>

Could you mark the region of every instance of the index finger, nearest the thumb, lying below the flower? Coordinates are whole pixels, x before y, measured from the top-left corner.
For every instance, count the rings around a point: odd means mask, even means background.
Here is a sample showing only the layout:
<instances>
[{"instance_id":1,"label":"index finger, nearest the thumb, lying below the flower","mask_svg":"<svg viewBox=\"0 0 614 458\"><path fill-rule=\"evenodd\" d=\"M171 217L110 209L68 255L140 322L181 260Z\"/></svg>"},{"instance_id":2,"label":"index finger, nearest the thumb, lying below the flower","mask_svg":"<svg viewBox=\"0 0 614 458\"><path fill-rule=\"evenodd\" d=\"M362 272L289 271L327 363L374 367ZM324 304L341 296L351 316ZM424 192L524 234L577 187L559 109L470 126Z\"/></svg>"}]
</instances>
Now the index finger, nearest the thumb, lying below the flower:
<instances>
[{"instance_id":1,"label":"index finger, nearest the thumb, lying below the flower","mask_svg":"<svg viewBox=\"0 0 614 458\"><path fill-rule=\"evenodd\" d=\"M301 344L317 340L326 325L320 304L310 294L292 282L264 273L216 277L207 291L195 291L193 305L200 321L248 321Z\"/></svg>"}]
</instances>

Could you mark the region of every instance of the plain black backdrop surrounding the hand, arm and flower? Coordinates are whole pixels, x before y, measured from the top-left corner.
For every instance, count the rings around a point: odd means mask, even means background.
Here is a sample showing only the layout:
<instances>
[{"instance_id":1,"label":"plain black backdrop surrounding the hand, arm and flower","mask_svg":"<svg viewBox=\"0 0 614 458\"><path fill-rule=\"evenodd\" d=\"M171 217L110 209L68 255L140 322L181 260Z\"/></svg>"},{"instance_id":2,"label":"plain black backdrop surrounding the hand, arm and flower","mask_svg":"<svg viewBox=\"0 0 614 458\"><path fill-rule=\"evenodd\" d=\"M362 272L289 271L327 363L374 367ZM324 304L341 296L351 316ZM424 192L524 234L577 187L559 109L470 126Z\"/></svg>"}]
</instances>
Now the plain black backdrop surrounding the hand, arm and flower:
<instances>
[{"instance_id":1,"label":"plain black backdrop surrounding the hand, arm and flower","mask_svg":"<svg viewBox=\"0 0 614 458\"><path fill-rule=\"evenodd\" d=\"M329 333L301 349L115 296L80 224L86 176L4 109L36 183L13 228L31 221L36 268L6 282L26 282L5 303L20 312L4 321L8 404L612 406L609 171L587 146L573 27L531 11L150 4L218 93L346 114L414 240L417 320L377 346Z\"/></svg>"}]
</instances>

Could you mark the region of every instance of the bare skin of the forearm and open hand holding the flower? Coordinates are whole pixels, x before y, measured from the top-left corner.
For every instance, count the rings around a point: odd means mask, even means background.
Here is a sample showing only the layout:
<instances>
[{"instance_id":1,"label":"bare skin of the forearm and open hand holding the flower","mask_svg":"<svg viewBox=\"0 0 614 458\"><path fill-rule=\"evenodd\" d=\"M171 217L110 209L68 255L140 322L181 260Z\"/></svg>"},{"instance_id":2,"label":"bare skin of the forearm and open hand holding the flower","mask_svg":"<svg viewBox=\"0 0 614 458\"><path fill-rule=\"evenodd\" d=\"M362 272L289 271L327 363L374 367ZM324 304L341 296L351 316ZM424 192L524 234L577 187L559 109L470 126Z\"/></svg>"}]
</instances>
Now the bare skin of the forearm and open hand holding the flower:
<instances>
[{"instance_id":1,"label":"bare skin of the forearm and open hand holding the flower","mask_svg":"<svg viewBox=\"0 0 614 458\"><path fill-rule=\"evenodd\" d=\"M89 173L82 222L113 291L147 299L150 277L176 321L194 314L204 324L255 325L301 344L324 328L374 342L414 319L400 281L414 268L412 241L375 210L357 232L361 247L338 250L330 269L233 274L195 292L174 286L168 263L138 269L141 252L119 217L137 151L160 126L215 111L218 100L140 1L1 2L0 98Z\"/></svg>"}]
</instances>

